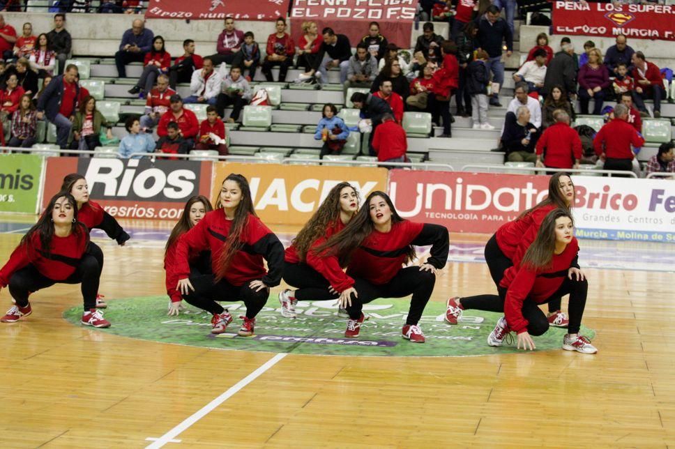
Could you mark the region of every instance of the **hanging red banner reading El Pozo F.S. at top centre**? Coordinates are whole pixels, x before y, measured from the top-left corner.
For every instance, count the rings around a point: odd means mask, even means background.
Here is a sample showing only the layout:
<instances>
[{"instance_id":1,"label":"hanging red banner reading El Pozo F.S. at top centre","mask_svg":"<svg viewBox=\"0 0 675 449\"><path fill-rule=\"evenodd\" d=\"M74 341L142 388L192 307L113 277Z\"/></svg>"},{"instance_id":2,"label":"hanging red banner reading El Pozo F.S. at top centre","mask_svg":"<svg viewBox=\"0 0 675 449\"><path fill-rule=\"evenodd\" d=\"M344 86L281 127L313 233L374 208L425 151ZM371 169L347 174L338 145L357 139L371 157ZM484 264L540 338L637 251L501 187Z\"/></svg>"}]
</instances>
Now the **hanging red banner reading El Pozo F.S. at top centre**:
<instances>
[{"instance_id":1,"label":"hanging red banner reading El Pozo F.S. at top centre","mask_svg":"<svg viewBox=\"0 0 675 449\"><path fill-rule=\"evenodd\" d=\"M368 33L368 23L377 22L380 34L399 47L410 47L410 33L418 0L294 0L291 10L293 39L302 35L302 22L317 22L349 38L356 47ZM320 37L320 36L319 36Z\"/></svg>"}]
</instances>

